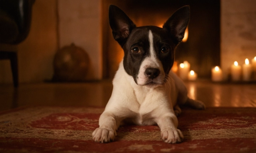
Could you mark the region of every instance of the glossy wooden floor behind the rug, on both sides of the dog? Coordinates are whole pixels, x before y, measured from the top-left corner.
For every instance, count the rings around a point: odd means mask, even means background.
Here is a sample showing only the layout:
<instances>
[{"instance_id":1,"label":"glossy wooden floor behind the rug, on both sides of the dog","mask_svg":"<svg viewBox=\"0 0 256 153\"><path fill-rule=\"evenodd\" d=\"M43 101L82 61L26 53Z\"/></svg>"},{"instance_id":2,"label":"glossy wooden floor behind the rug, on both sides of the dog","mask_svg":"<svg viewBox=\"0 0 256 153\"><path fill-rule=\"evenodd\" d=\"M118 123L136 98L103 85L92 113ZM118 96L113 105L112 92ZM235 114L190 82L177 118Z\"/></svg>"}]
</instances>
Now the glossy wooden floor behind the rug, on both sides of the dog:
<instances>
[{"instance_id":1,"label":"glossy wooden floor behind the rug, on both sides of the dog","mask_svg":"<svg viewBox=\"0 0 256 153\"><path fill-rule=\"evenodd\" d=\"M207 107L256 107L256 84L185 82L188 95ZM21 106L106 106L111 81L0 85L0 111Z\"/></svg>"}]
</instances>

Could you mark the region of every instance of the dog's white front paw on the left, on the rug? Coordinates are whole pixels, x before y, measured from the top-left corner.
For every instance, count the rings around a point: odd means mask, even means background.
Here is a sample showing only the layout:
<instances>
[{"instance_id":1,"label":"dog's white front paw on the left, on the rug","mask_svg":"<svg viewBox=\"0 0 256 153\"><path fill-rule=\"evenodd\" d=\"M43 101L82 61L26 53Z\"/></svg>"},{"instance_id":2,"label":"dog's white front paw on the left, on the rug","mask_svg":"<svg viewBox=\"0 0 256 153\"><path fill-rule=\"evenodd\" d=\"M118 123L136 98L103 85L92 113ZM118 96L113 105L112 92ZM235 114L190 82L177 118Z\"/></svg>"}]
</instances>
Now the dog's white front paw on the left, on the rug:
<instances>
[{"instance_id":1,"label":"dog's white front paw on the left, on the rug","mask_svg":"<svg viewBox=\"0 0 256 153\"><path fill-rule=\"evenodd\" d=\"M104 128L97 128L92 133L92 140L100 143L108 143L108 142L112 142L115 136L116 136L116 131L112 131Z\"/></svg>"}]
</instances>

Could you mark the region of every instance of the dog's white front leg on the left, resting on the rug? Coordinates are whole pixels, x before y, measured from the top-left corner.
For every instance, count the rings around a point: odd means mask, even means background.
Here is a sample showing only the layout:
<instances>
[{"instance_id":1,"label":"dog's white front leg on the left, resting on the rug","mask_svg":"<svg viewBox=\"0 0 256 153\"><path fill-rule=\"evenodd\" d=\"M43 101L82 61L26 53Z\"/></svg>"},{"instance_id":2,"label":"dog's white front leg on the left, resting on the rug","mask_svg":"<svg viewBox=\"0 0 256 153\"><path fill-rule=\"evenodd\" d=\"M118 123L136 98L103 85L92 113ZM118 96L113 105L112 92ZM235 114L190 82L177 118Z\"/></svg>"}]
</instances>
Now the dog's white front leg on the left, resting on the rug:
<instances>
[{"instance_id":1,"label":"dog's white front leg on the left, resting on the rug","mask_svg":"<svg viewBox=\"0 0 256 153\"><path fill-rule=\"evenodd\" d=\"M103 112L99 119L100 127L92 133L92 139L100 143L113 141L119 124L120 121L114 114Z\"/></svg>"}]
</instances>

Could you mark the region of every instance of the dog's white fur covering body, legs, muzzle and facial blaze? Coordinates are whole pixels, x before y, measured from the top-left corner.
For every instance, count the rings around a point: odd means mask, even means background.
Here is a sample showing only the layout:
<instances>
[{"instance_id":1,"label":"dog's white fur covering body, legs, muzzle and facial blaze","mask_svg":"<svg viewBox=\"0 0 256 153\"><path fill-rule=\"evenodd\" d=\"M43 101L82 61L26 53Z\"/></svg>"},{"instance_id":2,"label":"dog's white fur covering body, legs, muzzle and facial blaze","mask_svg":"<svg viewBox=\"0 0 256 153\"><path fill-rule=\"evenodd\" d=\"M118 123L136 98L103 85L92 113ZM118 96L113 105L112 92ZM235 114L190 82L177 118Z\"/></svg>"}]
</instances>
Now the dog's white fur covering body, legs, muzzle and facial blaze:
<instances>
[{"instance_id":1,"label":"dog's white fur covering body, legs, muzzle and facial blaze","mask_svg":"<svg viewBox=\"0 0 256 153\"><path fill-rule=\"evenodd\" d=\"M183 82L170 71L165 77L161 62L154 55L153 35L149 31L150 56L142 62L138 84L128 75L123 61L113 79L113 91L105 111L99 119L100 127L93 133L93 140L110 142L116 136L116 130L122 121L137 125L157 124L161 129L162 140L167 143L179 143L183 139L182 132L177 129L178 120L175 114L180 113L179 104L190 102L194 107L204 108L204 104L187 97L187 89ZM157 85L145 85L149 78L144 75L146 68L158 68L160 74L155 78ZM166 79L164 81L164 79ZM152 80L152 79L151 79ZM178 112L174 111L177 107Z\"/></svg>"}]
</instances>

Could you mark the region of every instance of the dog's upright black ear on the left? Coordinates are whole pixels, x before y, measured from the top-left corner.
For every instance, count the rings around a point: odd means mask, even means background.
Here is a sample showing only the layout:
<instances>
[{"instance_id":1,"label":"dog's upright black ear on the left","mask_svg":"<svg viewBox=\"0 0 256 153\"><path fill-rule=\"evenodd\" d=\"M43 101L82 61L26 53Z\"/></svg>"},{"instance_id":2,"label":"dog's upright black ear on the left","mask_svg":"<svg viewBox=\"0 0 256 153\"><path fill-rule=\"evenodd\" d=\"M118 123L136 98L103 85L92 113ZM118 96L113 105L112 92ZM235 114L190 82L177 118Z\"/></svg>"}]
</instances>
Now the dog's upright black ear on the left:
<instances>
[{"instance_id":1,"label":"dog's upright black ear on the left","mask_svg":"<svg viewBox=\"0 0 256 153\"><path fill-rule=\"evenodd\" d=\"M136 25L126 15L126 13L114 5L110 5L108 17L114 39L123 46L128 35Z\"/></svg>"}]
</instances>

